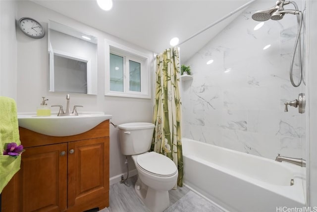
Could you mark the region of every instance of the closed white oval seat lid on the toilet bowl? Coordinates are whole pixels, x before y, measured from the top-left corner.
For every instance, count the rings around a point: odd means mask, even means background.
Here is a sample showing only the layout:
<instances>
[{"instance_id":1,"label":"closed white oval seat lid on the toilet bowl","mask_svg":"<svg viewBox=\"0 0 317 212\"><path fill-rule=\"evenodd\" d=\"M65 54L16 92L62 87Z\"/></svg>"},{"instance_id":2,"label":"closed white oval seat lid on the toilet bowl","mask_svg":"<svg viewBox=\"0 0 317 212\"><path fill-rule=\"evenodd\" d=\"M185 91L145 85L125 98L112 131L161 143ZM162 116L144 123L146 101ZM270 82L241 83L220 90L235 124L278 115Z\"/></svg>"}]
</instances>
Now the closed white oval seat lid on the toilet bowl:
<instances>
[{"instance_id":1,"label":"closed white oval seat lid on the toilet bowl","mask_svg":"<svg viewBox=\"0 0 317 212\"><path fill-rule=\"evenodd\" d=\"M144 170L159 176L171 176L177 171L171 159L156 152L138 156L137 163Z\"/></svg>"}]
</instances>

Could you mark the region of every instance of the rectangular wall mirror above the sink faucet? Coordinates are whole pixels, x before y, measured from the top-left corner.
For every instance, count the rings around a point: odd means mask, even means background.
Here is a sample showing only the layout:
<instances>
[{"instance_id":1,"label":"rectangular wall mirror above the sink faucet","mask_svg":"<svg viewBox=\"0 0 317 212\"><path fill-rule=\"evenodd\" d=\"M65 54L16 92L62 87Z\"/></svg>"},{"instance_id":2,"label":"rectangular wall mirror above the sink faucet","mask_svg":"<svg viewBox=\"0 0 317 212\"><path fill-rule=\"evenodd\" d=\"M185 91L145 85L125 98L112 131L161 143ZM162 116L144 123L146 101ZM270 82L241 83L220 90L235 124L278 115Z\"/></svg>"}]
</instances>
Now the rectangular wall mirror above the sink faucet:
<instances>
[{"instance_id":1,"label":"rectangular wall mirror above the sink faucet","mask_svg":"<svg viewBox=\"0 0 317 212\"><path fill-rule=\"evenodd\" d=\"M97 94L97 38L49 20L50 91Z\"/></svg>"}]
</instances>

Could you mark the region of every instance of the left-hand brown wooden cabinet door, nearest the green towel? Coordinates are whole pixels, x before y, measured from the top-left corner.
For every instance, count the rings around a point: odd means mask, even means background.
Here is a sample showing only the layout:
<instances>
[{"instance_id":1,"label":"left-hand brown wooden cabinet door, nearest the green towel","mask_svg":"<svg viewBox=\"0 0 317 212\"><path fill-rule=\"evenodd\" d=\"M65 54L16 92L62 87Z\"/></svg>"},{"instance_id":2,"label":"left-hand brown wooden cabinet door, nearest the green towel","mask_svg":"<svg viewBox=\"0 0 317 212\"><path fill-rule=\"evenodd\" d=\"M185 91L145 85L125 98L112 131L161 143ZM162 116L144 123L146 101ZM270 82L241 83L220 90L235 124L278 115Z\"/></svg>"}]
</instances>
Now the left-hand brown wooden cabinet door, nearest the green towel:
<instances>
[{"instance_id":1,"label":"left-hand brown wooden cabinet door, nearest the green towel","mask_svg":"<svg viewBox=\"0 0 317 212\"><path fill-rule=\"evenodd\" d=\"M14 178L14 212L65 211L67 143L25 150Z\"/></svg>"}]
</instances>

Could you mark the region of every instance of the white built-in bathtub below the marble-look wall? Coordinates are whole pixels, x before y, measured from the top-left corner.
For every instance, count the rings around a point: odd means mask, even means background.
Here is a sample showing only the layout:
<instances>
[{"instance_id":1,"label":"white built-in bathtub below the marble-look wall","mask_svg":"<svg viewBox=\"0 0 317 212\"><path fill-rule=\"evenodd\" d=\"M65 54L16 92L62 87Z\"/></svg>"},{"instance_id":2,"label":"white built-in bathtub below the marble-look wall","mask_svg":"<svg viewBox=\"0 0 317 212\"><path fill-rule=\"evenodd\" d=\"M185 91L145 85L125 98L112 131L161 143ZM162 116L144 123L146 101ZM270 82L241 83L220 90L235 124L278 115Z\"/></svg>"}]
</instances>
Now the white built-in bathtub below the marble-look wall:
<instances>
[{"instance_id":1,"label":"white built-in bathtub below the marble-look wall","mask_svg":"<svg viewBox=\"0 0 317 212\"><path fill-rule=\"evenodd\" d=\"M225 211L278 212L305 206L305 168L186 138L182 148L185 185Z\"/></svg>"}]
</instances>

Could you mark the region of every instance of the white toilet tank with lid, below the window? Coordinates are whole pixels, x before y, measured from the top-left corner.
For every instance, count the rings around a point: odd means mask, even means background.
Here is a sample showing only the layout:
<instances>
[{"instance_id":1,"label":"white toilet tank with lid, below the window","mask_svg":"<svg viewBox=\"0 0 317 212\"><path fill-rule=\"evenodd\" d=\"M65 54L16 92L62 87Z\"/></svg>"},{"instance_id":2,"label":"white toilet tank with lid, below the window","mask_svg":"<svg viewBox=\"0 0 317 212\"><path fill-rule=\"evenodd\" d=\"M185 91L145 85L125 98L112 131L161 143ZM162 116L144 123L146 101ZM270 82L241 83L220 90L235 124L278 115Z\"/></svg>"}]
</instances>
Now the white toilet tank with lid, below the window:
<instances>
[{"instance_id":1,"label":"white toilet tank with lid, below the window","mask_svg":"<svg viewBox=\"0 0 317 212\"><path fill-rule=\"evenodd\" d=\"M138 155L150 150L155 125L133 122L118 125L121 153Z\"/></svg>"}]
</instances>

